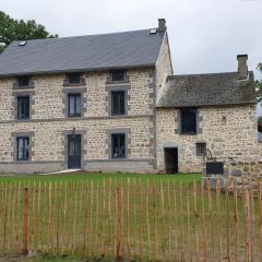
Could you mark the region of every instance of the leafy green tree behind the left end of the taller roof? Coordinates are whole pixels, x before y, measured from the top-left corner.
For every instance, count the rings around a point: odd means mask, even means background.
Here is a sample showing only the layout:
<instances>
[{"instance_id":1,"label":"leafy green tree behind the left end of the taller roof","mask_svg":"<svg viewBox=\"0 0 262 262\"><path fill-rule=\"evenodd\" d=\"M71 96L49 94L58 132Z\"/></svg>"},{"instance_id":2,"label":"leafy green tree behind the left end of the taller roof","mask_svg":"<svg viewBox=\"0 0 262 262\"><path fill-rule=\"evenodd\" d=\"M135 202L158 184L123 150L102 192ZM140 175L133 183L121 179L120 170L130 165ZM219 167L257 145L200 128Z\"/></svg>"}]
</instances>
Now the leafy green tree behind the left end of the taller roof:
<instances>
[{"instance_id":1,"label":"leafy green tree behind the left end of the taller roof","mask_svg":"<svg viewBox=\"0 0 262 262\"><path fill-rule=\"evenodd\" d=\"M49 34L44 25L34 20L14 20L0 11L0 52L13 40L31 40L53 38L58 35Z\"/></svg>"}]
</instances>

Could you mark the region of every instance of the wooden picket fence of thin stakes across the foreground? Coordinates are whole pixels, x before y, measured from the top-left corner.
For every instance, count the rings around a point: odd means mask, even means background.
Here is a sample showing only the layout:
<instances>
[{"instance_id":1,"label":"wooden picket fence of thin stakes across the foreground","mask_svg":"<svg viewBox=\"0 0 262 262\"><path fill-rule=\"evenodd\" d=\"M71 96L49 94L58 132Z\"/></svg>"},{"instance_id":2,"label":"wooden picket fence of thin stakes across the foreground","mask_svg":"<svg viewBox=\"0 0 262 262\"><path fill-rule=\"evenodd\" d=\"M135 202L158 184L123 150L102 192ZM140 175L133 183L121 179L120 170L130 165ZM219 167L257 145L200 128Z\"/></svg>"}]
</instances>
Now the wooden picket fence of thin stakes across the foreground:
<instances>
[{"instance_id":1,"label":"wooden picket fence of thin stakes across the foreground","mask_svg":"<svg viewBox=\"0 0 262 262\"><path fill-rule=\"evenodd\" d=\"M262 261L262 184L0 183L0 250L138 261Z\"/></svg>"}]
</instances>

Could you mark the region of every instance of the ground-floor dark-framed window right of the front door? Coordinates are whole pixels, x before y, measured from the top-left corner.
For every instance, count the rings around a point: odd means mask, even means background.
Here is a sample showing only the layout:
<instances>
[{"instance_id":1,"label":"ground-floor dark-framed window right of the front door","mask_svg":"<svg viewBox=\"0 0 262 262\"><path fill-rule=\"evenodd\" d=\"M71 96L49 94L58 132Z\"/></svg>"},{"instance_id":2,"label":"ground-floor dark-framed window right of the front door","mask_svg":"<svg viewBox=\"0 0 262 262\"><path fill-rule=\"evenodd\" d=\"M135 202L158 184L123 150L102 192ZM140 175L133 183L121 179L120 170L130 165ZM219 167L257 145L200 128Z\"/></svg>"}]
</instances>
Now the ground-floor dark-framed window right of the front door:
<instances>
[{"instance_id":1,"label":"ground-floor dark-framed window right of the front door","mask_svg":"<svg viewBox=\"0 0 262 262\"><path fill-rule=\"evenodd\" d=\"M126 140L126 133L111 134L111 158L123 159L127 157ZM120 153L117 153L116 150Z\"/></svg>"}]
</instances>

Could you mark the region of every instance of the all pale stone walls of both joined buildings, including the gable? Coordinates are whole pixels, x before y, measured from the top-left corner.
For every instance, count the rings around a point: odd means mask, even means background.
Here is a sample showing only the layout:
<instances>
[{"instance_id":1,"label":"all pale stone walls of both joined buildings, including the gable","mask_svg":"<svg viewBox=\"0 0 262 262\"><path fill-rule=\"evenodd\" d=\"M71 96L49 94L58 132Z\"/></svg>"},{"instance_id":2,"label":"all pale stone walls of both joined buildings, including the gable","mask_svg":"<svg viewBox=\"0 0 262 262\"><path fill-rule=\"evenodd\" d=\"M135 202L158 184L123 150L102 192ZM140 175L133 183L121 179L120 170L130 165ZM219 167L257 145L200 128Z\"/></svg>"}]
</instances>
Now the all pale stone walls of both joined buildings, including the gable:
<instances>
[{"instance_id":1,"label":"all pale stone walls of both joined buildings, including the gable","mask_svg":"<svg viewBox=\"0 0 262 262\"><path fill-rule=\"evenodd\" d=\"M70 134L81 135L81 168L90 171L165 172L164 150L175 147L179 172L201 172L203 159L196 156L196 143L206 143L213 156L226 164L231 157L235 163L260 162L262 146L258 146L254 105L199 107L196 134L180 134L179 109L156 106L171 74L165 34L155 67L128 69L122 82L110 81L105 70L82 73L75 86L61 73L35 75L27 90L17 88L15 78L1 78L0 174L68 168ZM123 116L111 116L112 91L124 91ZM81 93L79 117L68 117L70 93ZM17 120L16 97L25 94L31 99L31 119ZM112 133L124 133L126 158L111 157ZM16 160L19 135L31 141L26 162ZM233 170L229 164L226 169ZM252 165L249 170L253 170Z\"/></svg>"}]
</instances>

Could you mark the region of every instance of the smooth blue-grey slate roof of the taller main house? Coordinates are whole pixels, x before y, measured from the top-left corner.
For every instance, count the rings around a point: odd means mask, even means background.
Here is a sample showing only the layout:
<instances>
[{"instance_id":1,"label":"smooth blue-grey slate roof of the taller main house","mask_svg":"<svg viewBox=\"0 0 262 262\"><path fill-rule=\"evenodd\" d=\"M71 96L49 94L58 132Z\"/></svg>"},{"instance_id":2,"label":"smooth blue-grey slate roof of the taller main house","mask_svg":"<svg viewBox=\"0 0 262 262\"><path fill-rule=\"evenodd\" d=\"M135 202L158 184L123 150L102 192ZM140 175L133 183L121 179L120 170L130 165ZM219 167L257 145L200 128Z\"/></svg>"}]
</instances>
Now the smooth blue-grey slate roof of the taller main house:
<instances>
[{"instance_id":1,"label":"smooth blue-grey slate roof of the taller main house","mask_svg":"<svg viewBox=\"0 0 262 262\"><path fill-rule=\"evenodd\" d=\"M0 76L154 66L164 35L142 29L13 41L0 55Z\"/></svg>"}]
</instances>

